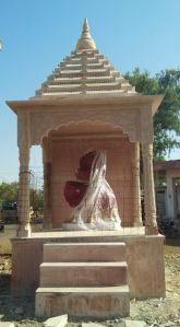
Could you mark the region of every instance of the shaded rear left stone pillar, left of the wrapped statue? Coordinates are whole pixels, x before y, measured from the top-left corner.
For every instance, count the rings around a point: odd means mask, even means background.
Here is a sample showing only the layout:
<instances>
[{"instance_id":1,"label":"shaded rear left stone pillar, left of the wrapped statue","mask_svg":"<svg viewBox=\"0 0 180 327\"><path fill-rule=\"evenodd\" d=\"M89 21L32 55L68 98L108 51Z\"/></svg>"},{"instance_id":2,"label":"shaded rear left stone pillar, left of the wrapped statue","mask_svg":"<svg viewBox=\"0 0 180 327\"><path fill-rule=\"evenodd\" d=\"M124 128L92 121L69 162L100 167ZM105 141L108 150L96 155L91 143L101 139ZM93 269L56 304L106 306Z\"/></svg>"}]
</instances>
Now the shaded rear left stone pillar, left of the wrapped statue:
<instances>
[{"instance_id":1,"label":"shaded rear left stone pillar, left of the wrapped statue","mask_svg":"<svg viewBox=\"0 0 180 327\"><path fill-rule=\"evenodd\" d=\"M51 230L51 147L46 140L43 144L44 161L44 229Z\"/></svg>"}]
</instances>

